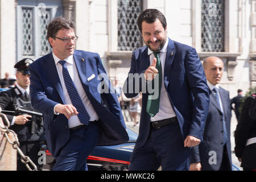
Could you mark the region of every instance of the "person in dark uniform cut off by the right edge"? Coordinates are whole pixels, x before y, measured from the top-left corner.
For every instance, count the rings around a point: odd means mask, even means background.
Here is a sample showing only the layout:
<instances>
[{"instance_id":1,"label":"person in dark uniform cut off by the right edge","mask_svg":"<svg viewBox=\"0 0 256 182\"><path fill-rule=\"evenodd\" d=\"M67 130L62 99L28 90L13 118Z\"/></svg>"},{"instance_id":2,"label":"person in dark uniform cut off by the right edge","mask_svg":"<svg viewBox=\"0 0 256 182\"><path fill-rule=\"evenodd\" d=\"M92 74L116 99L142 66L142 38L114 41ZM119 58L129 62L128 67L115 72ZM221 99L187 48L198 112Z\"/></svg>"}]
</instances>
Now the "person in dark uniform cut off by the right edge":
<instances>
[{"instance_id":1,"label":"person in dark uniform cut off by the right edge","mask_svg":"<svg viewBox=\"0 0 256 182\"><path fill-rule=\"evenodd\" d=\"M256 106L256 93L247 97L241 111L241 117L235 131L235 154L244 171L256 170L256 118L250 116L251 109Z\"/></svg>"}]
</instances>

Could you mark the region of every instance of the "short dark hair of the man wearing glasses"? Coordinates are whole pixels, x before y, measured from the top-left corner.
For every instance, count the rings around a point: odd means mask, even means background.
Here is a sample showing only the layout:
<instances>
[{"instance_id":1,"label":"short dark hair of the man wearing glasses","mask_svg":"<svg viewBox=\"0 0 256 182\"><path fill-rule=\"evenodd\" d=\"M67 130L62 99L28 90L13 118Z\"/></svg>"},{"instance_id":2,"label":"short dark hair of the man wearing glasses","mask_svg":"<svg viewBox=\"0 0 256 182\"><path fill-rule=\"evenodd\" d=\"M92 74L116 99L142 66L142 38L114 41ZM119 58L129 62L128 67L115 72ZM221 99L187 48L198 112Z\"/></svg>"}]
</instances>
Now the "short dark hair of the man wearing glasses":
<instances>
[{"instance_id":1,"label":"short dark hair of the man wearing glasses","mask_svg":"<svg viewBox=\"0 0 256 182\"><path fill-rule=\"evenodd\" d=\"M73 29L76 32L75 23L72 20L64 18L64 17L57 17L53 19L47 27L47 40L49 38L55 38L57 32L61 29ZM51 44L50 44L51 45Z\"/></svg>"}]
</instances>

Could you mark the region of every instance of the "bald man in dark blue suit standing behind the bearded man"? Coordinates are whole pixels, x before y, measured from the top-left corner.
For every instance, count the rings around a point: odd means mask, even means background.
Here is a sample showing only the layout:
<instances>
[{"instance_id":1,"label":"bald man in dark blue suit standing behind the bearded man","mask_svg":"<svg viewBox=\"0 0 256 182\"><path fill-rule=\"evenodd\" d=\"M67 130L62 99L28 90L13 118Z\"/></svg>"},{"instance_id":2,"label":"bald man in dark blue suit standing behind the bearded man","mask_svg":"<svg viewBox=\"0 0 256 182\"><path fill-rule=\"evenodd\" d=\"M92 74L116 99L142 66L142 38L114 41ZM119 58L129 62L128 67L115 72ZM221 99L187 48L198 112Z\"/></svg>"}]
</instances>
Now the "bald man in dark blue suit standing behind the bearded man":
<instances>
[{"instance_id":1,"label":"bald man in dark blue suit standing behind the bearded man","mask_svg":"<svg viewBox=\"0 0 256 182\"><path fill-rule=\"evenodd\" d=\"M230 146L230 99L229 92L221 86L224 63L218 57L203 61L209 86L210 104L203 141L192 148L191 171L230 171L232 169Z\"/></svg>"}]
</instances>

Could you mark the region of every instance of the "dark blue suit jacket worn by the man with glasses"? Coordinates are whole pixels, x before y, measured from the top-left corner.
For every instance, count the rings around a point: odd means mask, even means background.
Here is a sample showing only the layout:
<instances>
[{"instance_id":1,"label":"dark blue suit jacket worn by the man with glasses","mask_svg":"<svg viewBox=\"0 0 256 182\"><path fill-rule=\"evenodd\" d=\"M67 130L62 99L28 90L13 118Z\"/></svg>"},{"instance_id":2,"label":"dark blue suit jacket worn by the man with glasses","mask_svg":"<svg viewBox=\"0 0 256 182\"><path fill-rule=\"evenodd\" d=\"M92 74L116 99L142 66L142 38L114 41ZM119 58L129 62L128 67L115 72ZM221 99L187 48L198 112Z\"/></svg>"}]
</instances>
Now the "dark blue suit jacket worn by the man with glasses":
<instances>
[{"instance_id":1,"label":"dark blue suit jacket worn by the man with glasses","mask_svg":"<svg viewBox=\"0 0 256 182\"><path fill-rule=\"evenodd\" d=\"M97 53L77 51L73 54L80 81L86 95L100 118L98 145L120 144L129 140L121 107L113 91L105 69ZM43 113L46 139L53 156L58 156L61 147L69 139L68 119L64 114L55 115L53 107L64 104L63 90L52 53L30 64L30 94L32 106ZM89 77L95 75L92 80ZM100 78L101 76L103 78ZM99 76L99 77L98 77ZM105 85L108 93L98 92ZM110 91L111 90L111 91Z\"/></svg>"}]
</instances>

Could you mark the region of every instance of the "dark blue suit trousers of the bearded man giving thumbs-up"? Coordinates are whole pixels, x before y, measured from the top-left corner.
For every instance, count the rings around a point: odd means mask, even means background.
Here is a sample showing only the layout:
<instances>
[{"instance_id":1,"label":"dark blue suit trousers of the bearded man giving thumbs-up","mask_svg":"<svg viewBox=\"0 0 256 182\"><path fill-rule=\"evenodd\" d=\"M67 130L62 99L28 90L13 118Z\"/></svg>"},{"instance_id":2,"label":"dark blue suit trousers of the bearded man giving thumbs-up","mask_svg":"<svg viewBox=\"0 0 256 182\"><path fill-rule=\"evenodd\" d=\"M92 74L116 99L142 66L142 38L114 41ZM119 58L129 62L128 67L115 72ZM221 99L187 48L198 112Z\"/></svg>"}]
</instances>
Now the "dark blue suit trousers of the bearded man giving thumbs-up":
<instances>
[{"instance_id":1,"label":"dark blue suit trousers of the bearded man giving thumbs-up","mask_svg":"<svg viewBox=\"0 0 256 182\"><path fill-rule=\"evenodd\" d=\"M189 170L191 149L184 147L179 123L170 123L160 129L150 127L147 142L142 147L135 145L131 155L130 171Z\"/></svg>"}]
</instances>

